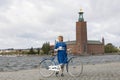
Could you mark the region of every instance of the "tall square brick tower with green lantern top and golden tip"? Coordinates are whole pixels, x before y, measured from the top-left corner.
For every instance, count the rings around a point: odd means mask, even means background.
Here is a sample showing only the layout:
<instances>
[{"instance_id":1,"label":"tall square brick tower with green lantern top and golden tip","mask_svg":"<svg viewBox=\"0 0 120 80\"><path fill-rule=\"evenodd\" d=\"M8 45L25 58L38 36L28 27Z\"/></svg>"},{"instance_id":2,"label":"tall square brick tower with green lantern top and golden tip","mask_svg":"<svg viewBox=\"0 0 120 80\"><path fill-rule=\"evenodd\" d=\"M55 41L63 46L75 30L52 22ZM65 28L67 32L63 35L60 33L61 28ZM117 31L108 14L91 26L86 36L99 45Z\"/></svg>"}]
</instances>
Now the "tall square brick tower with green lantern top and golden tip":
<instances>
[{"instance_id":1,"label":"tall square brick tower with green lantern top and golden tip","mask_svg":"<svg viewBox=\"0 0 120 80\"><path fill-rule=\"evenodd\" d=\"M76 22L76 52L77 54L87 53L87 25L83 18L82 9Z\"/></svg>"}]
</instances>

